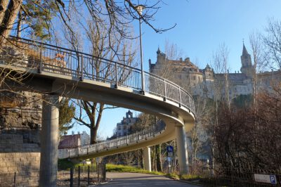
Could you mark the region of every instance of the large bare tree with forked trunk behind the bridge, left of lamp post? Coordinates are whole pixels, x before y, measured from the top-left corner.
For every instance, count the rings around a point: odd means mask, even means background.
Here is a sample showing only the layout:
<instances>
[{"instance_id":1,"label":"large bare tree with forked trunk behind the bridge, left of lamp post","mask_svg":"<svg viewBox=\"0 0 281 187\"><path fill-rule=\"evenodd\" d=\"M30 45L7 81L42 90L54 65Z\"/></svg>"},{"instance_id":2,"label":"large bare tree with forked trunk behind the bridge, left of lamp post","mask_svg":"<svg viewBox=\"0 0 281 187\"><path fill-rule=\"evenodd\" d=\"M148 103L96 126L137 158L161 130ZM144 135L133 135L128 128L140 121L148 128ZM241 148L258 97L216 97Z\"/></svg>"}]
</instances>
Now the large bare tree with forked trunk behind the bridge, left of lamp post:
<instances>
[{"instance_id":1,"label":"large bare tree with forked trunk behind the bridge, left of lamp post","mask_svg":"<svg viewBox=\"0 0 281 187\"><path fill-rule=\"evenodd\" d=\"M119 38L117 39L117 35L115 35L115 37L111 38L109 44L107 40L107 25L92 25L91 23L92 22L89 22L89 27L86 32L91 44L91 54L93 55L93 62L90 64L90 68L93 71L91 79L103 82L110 79L113 72L109 67L112 66L113 60L119 59L119 62L124 66L136 65L134 64L135 51L129 40L125 39L121 35L119 35ZM122 30L122 28L119 28L119 30ZM112 50L110 45L114 46L115 49ZM116 52L119 53L118 58ZM108 61L104 63L101 59L107 59ZM122 70L120 69L118 73L118 82L122 83L129 77L131 72L126 71L126 68L124 68ZM77 115L74 117L75 120L77 120L79 124L89 127L91 131L91 143L96 143L96 136L103 111L115 107L105 105L104 103L90 101L76 101L75 103L77 103L79 108Z\"/></svg>"}]
</instances>

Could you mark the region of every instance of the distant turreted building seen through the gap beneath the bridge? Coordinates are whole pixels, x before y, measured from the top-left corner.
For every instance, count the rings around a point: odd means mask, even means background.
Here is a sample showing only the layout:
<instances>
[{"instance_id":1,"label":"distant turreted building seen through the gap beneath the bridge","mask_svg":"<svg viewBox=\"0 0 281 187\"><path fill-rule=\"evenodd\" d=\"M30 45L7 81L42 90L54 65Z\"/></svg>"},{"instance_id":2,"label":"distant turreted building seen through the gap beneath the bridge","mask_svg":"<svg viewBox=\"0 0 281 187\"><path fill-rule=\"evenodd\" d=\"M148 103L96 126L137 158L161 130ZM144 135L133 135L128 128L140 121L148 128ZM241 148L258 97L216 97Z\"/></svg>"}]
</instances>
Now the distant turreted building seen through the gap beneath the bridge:
<instances>
[{"instance_id":1,"label":"distant turreted building seen through the gap beneath the bridge","mask_svg":"<svg viewBox=\"0 0 281 187\"><path fill-rule=\"evenodd\" d=\"M130 127L138 120L138 117L133 117L133 112L130 110L126 112L126 117L123 117L123 120L117 123L116 136L126 136L129 133Z\"/></svg>"}]
</instances>

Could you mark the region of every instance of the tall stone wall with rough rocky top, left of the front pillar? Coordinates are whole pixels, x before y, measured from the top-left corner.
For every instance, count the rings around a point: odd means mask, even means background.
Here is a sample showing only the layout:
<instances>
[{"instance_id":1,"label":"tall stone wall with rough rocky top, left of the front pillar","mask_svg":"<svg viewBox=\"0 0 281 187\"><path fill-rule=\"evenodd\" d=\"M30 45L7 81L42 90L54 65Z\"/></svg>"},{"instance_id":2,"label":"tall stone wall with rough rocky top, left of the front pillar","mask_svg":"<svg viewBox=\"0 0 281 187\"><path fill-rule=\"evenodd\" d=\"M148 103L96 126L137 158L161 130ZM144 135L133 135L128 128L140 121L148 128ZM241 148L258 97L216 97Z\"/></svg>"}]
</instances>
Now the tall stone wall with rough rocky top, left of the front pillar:
<instances>
[{"instance_id":1,"label":"tall stone wall with rough rocky top, left of the front pillar","mask_svg":"<svg viewBox=\"0 0 281 187\"><path fill-rule=\"evenodd\" d=\"M0 186L38 186L41 95L0 92Z\"/></svg>"}]
</instances>

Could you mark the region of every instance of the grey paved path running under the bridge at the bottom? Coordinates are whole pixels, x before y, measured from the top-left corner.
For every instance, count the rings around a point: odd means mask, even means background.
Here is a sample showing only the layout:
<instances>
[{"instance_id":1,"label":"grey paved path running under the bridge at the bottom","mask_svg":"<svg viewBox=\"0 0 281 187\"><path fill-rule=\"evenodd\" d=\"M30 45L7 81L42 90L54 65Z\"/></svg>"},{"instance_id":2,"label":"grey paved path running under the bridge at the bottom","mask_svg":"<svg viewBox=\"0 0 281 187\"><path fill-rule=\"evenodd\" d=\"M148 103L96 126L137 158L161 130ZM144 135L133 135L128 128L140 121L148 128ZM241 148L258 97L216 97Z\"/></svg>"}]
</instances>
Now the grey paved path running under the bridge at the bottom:
<instances>
[{"instance_id":1,"label":"grey paved path running under the bridge at the bottom","mask_svg":"<svg viewBox=\"0 0 281 187\"><path fill-rule=\"evenodd\" d=\"M198 187L191 185L189 183L183 183L180 181L174 181L165 176L158 176L152 174L133 174L133 173L111 173L107 172L107 178L112 179L112 181L103 184L102 186L188 186L188 187Z\"/></svg>"}]
</instances>

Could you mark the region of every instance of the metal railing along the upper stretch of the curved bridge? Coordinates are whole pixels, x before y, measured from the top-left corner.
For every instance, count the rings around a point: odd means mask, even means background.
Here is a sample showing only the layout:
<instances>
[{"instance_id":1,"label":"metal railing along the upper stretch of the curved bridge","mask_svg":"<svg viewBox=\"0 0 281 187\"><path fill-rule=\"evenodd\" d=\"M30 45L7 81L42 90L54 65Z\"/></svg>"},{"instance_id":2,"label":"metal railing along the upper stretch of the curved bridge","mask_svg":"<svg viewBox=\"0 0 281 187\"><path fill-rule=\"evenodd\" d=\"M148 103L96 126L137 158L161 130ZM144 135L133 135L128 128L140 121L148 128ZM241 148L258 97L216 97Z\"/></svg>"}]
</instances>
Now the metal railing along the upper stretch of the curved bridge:
<instances>
[{"instance_id":1,"label":"metal railing along the upper stretch of the curved bridge","mask_svg":"<svg viewBox=\"0 0 281 187\"><path fill-rule=\"evenodd\" d=\"M107 82L116 86L126 86L162 97L188 108L195 114L192 96L177 84L149 72L144 73L145 88L142 88L141 70L122 63L91 56L87 53L44 44L29 39L11 37L11 46L17 49L13 53L2 50L0 63L12 63L17 67L37 69L41 72L54 72L83 79ZM16 56L15 53L21 53ZM10 60L7 60L9 58ZM11 58L18 58L11 60Z\"/></svg>"}]
</instances>

